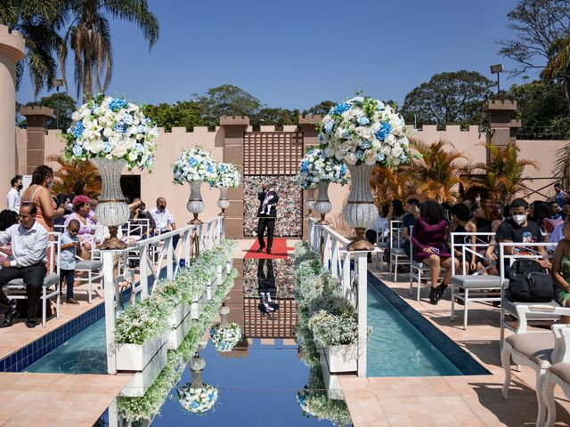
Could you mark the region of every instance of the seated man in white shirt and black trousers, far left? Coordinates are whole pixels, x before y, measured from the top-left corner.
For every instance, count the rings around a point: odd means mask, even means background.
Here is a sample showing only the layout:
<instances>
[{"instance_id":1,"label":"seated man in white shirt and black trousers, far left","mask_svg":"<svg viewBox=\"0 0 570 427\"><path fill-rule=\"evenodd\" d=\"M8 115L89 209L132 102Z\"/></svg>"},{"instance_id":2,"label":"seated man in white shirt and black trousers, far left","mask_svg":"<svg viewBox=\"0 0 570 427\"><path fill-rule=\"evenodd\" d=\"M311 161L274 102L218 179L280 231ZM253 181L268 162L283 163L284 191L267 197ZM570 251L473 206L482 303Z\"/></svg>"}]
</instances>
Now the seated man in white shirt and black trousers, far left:
<instances>
[{"instance_id":1,"label":"seated man in white shirt and black trousers, far left","mask_svg":"<svg viewBox=\"0 0 570 427\"><path fill-rule=\"evenodd\" d=\"M15 278L23 278L28 294L28 327L37 326L37 305L45 279L45 253L48 246L47 231L36 222L36 205L22 203L20 206L19 224L8 230L0 231L0 246L11 244L12 255L2 262L0 270L0 312L4 311L5 319L0 327L12 326L20 313L12 307L12 303L2 287Z\"/></svg>"}]
</instances>

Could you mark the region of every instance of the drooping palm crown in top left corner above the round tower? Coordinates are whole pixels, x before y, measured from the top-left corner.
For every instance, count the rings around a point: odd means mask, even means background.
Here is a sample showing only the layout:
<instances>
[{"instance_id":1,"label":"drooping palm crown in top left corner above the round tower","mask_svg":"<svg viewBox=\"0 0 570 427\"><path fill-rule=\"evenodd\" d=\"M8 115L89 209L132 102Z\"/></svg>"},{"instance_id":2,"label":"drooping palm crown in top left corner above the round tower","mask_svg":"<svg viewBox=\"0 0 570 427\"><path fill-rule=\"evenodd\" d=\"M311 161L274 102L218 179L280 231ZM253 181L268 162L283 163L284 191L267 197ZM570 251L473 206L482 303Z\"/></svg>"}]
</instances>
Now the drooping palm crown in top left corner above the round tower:
<instances>
[{"instance_id":1,"label":"drooping palm crown in top left corner above the round tower","mask_svg":"<svg viewBox=\"0 0 570 427\"><path fill-rule=\"evenodd\" d=\"M61 37L58 30L65 21L65 5L68 0L2 0L0 23L20 31L26 38L25 65L34 85L35 93L51 89L57 70L54 59ZM17 85L20 86L24 64L16 68Z\"/></svg>"}]
</instances>

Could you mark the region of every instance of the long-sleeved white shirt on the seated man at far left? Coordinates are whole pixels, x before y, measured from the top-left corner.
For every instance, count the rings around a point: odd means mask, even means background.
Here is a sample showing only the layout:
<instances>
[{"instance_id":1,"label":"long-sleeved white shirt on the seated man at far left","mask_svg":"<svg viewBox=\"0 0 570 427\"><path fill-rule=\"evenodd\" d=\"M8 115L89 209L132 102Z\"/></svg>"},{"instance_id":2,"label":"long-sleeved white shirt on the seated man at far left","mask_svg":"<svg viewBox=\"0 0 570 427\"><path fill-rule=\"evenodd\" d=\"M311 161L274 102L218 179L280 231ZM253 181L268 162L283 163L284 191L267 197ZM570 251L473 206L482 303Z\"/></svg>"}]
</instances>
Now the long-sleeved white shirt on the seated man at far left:
<instances>
[{"instance_id":1,"label":"long-sleeved white shirt on the seated man at far left","mask_svg":"<svg viewBox=\"0 0 570 427\"><path fill-rule=\"evenodd\" d=\"M28 267L38 262L47 262L47 231L39 222L34 222L31 229L24 229L14 224L8 230L0 231L0 246L12 243L10 265L12 267Z\"/></svg>"}]
</instances>

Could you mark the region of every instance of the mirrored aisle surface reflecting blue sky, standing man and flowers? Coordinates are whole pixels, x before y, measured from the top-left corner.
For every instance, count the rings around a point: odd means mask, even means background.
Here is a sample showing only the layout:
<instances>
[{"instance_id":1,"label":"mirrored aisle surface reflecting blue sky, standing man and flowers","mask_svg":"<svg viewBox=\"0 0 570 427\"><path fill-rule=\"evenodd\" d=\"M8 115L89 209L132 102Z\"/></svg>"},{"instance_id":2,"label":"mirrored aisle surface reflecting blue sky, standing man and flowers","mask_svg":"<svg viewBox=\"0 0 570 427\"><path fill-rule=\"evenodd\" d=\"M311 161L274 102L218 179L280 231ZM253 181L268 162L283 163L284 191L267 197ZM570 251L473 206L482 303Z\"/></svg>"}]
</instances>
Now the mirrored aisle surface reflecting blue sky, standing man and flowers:
<instances>
[{"instance_id":1,"label":"mirrored aisle surface reflecting blue sky, standing man and flowers","mask_svg":"<svg viewBox=\"0 0 570 427\"><path fill-rule=\"evenodd\" d=\"M189 358L191 362L177 372L174 387L160 403L151 425L325 427L350 423L346 404L327 398L321 367L307 367L301 360L305 356L295 340L294 263L253 259L243 264L236 261L234 267L243 269L243 281L237 280L228 294L220 310L221 321L210 329L214 336L199 350L199 357ZM264 302L273 311L266 312ZM216 338L221 329L232 325L232 337ZM241 329L240 338L236 338L235 327ZM222 352L218 342L224 341L228 343L222 348L227 351Z\"/></svg>"}]
</instances>

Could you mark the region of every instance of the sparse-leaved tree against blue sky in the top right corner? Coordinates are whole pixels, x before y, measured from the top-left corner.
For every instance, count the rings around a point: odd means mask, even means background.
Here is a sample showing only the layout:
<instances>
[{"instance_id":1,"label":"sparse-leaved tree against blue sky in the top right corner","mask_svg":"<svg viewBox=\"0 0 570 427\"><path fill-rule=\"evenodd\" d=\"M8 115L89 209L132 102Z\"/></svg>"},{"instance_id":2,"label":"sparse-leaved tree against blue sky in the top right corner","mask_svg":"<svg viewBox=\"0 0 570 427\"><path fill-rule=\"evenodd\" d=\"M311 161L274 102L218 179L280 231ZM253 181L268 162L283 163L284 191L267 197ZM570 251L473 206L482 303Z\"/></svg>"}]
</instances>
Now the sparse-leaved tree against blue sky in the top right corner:
<instances>
[{"instance_id":1,"label":"sparse-leaved tree against blue sky in the top right corner","mask_svg":"<svg viewBox=\"0 0 570 427\"><path fill-rule=\"evenodd\" d=\"M570 0L521 0L507 17L515 37L500 40L499 53L517 62L517 67L511 72L525 74L532 69L542 69L549 63L550 71L555 71L558 68L554 65L556 60L551 60L561 52L561 44L570 33ZM561 58L558 63L562 62ZM560 70L556 69L549 78L558 77L570 111L570 74L560 74Z\"/></svg>"}]
</instances>

